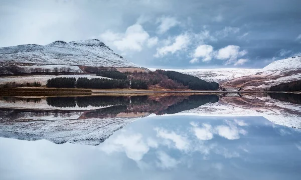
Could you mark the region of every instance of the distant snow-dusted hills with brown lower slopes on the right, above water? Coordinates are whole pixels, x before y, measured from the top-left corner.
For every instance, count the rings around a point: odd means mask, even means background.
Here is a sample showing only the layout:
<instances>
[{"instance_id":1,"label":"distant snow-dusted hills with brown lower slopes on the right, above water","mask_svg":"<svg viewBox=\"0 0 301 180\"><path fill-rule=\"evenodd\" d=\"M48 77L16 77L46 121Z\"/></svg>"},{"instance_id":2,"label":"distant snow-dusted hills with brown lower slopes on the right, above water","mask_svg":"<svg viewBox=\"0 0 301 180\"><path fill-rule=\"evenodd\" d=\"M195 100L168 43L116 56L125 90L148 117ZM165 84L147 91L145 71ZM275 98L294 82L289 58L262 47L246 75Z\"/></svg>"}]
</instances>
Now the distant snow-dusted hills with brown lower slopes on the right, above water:
<instances>
[{"instance_id":1,"label":"distant snow-dusted hills with brown lower slopes on the right, above water","mask_svg":"<svg viewBox=\"0 0 301 180\"><path fill-rule=\"evenodd\" d=\"M262 69L183 69L174 70L222 87L243 90L265 89L280 83L301 79L301 56L274 61Z\"/></svg>"}]
</instances>

